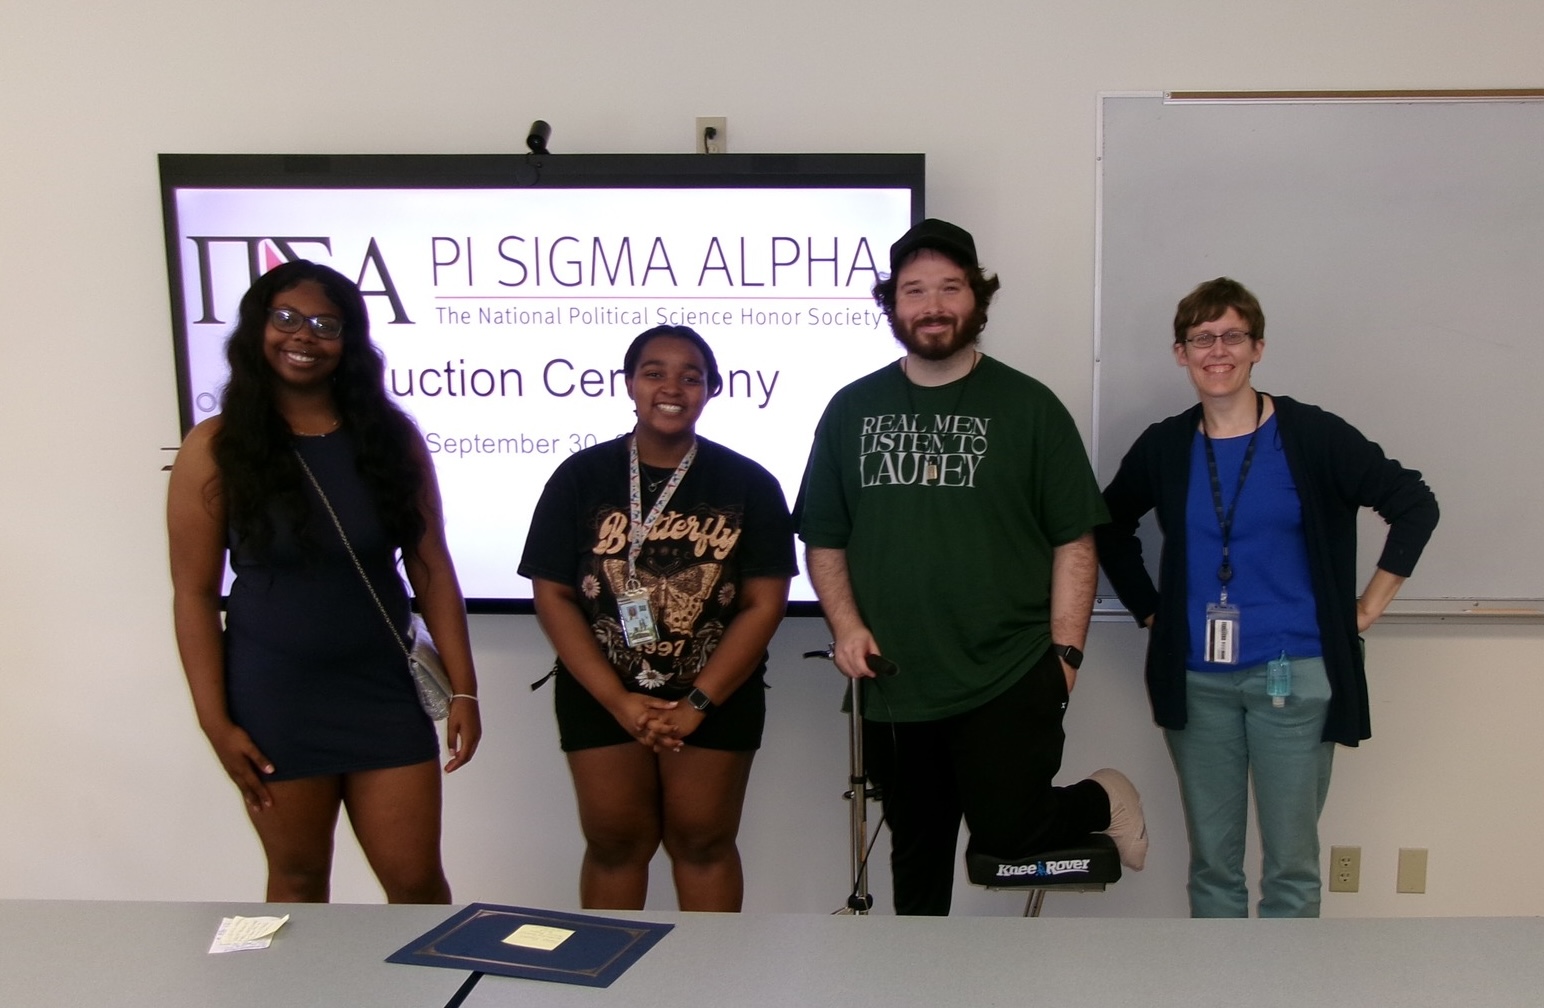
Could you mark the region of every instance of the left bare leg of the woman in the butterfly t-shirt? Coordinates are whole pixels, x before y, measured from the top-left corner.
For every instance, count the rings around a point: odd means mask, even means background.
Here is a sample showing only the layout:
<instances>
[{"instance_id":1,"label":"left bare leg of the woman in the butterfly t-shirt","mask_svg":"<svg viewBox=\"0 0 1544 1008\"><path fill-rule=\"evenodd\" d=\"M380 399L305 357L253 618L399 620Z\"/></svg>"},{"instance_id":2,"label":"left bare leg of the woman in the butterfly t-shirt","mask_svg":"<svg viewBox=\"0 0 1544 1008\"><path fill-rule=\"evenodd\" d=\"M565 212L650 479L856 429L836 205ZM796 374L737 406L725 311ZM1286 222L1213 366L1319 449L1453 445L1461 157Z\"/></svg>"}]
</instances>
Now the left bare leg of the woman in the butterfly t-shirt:
<instances>
[{"instance_id":1,"label":"left bare leg of the woman in the butterfly t-shirt","mask_svg":"<svg viewBox=\"0 0 1544 1008\"><path fill-rule=\"evenodd\" d=\"M579 905L585 909L644 908L648 861L659 849L656 759L638 742L568 753L585 840L579 869Z\"/></svg>"}]
</instances>

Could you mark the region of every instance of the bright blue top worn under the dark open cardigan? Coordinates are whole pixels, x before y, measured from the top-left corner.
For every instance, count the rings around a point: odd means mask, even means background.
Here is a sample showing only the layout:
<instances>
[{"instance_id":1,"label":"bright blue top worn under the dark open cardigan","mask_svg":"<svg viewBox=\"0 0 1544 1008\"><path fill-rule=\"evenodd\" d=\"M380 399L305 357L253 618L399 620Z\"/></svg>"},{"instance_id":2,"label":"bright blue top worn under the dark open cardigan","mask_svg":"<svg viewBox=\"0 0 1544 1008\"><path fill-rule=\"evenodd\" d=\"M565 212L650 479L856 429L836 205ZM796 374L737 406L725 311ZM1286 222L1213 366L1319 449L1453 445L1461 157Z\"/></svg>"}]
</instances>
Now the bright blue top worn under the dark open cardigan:
<instances>
[{"instance_id":1,"label":"bright blue top worn under the dark open cardigan","mask_svg":"<svg viewBox=\"0 0 1544 1008\"><path fill-rule=\"evenodd\" d=\"M1238 469L1249 448L1249 435L1212 438L1217 477L1221 485L1223 514L1238 489ZM1227 602L1238 607L1238 661L1218 665L1206 655L1206 607L1217 602L1221 582L1223 529L1217 520L1212 480L1206 465L1206 437L1197 431L1190 446L1190 488L1186 497L1186 583L1190 621L1187 668L1234 671L1260 665L1283 651L1292 658L1319 658L1319 614L1308 573L1308 543L1303 539L1303 505L1286 466L1275 417L1261 425L1255 437L1254 460L1234 511L1229 551L1234 577Z\"/></svg>"}]
</instances>

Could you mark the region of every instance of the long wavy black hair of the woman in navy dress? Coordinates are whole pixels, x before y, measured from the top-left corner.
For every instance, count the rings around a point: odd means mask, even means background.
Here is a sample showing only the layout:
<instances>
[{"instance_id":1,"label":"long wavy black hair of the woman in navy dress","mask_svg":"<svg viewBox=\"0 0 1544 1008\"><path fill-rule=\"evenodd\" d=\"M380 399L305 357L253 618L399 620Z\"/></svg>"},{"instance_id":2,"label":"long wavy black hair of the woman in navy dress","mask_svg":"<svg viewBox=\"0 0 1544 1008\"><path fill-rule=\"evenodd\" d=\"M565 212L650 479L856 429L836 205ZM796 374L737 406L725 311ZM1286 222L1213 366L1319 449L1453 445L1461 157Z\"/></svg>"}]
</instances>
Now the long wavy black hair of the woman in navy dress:
<instances>
[{"instance_id":1,"label":"long wavy black hair of the woman in navy dress","mask_svg":"<svg viewBox=\"0 0 1544 1008\"><path fill-rule=\"evenodd\" d=\"M306 281L320 284L343 318L343 352L332 372L334 406L354 438L360 477L388 536L411 554L426 531L420 502L428 474L417 426L386 395L386 358L371 343L360 289L343 273L307 259L259 276L242 295L236 327L225 341L230 378L221 392L213 452L230 526L261 553L273 542L275 522L298 531L310 511L293 435L275 404L275 375L264 355L273 299Z\"/></svg>"}]
</instances>

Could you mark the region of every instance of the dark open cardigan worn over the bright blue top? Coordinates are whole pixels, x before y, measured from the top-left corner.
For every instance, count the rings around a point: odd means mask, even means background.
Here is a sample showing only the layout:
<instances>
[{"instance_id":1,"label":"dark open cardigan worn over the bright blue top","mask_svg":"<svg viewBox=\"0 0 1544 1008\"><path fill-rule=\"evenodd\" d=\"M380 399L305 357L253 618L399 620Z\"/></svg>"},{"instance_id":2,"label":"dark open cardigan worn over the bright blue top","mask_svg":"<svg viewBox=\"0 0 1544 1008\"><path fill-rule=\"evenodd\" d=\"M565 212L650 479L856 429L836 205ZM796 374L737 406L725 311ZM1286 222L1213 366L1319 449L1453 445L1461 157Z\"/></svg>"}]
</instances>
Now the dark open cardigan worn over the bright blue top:
<instances>
[{"instance_id":1,"label":"dark open cardigan worn over the bright blue top","mask_svg":"<svg viewBox=\"0 0 1544 1008\"><path fill-rule=\"evenodd\" d=\"M1357 511L1373 508L1388 522L1377 565L1408 577L1437 523L1437 500L1420 474L1383 455L1383 449L1340 417L1272 397L1288 469L1303 506L1308 570L1319 611L1319 636L1332 696L1325 741L1356 746L1371 736L1366 670L1356 630ZM1153 719L1183 729L1184 667L1190 653L1186 619L1184 508L1190 482L1190 448L1201 406L1147 428L1121 460L1104 489L1110 523L1095 529L1099 563L1138 624L1153 617L1147 642L1147 695ZM1158 587L1143 563L1136 526L1158 511L1163 553Z\"/></svg>"}]
</instances>

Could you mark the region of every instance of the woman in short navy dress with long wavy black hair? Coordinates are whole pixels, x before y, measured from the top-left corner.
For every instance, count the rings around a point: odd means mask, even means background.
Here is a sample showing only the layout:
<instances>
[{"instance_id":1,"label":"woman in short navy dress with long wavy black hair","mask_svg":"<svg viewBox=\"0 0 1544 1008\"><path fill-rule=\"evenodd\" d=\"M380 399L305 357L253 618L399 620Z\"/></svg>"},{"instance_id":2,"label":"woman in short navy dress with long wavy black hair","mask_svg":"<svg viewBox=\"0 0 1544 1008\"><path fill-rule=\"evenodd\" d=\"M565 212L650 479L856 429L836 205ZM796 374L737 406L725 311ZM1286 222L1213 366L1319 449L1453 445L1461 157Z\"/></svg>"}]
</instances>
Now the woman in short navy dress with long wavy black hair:
<instances>
[{"instance_id":1,"label":"woman in short navy dress with long wavy black hair","mask_svg":"<svg viewBox=\"0 0 1544 1008\"><path fill-rule=\"evenodd\" d=\"M225 355L221 414L171 469L173 614L199 727L267 857L266 898L327 900L346 809L389 901L449 903L438 739L403 653L398 556L455 692L446 772L482 726L429 454L386 397L364 298L324 266L258 278Z\"/></svg>"}]
</instances>

